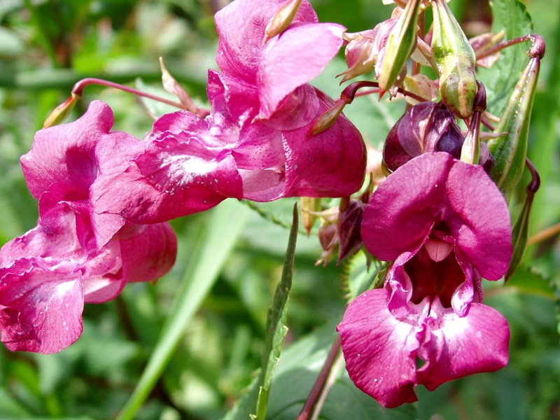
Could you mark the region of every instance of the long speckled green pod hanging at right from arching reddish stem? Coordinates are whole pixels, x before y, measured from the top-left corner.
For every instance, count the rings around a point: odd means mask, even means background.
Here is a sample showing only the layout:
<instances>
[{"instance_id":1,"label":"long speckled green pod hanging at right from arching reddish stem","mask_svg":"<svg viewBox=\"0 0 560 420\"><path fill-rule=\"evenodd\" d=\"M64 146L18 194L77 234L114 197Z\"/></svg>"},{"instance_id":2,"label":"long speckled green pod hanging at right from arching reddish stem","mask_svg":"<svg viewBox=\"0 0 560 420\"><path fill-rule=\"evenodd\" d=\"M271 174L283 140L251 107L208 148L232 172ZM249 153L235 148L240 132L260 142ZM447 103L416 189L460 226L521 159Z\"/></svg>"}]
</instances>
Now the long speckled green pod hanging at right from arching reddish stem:
<instances>
[{"instance_id":1,"label":"long speckled green pod hanging at right from arching reddish stem","mask_svg":"<svg viewBox=\"0 0 560 420\"><path fill-rule=\"evenodd\" d=\"M490 172L506 200L510 200L512 190L521 179L527 155L527 141L531 111L540 70L540 57L532 57L521 74L510 101L494 132L503 134L488 143L494 158Z\"/></svg>"}]
</instances>

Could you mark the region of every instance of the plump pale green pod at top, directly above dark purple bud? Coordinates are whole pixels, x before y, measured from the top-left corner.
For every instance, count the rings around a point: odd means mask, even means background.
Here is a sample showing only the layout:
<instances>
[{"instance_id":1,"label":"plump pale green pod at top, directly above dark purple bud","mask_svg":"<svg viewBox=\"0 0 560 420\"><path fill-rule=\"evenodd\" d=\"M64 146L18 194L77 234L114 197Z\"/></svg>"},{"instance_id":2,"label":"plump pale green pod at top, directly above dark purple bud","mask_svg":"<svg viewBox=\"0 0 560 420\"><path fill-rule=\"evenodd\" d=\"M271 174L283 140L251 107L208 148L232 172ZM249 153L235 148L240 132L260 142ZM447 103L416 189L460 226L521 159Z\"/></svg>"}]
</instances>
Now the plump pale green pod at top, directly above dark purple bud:
<instances>
[{"instance_id":1,"label":"plump pale green pod at top, directly above dark purple bud","mask_svg":"<svg viewBox=\"0 0 560 420\"><path fill-rule=\"evenodd\" d=\"M433 0L432 55L445 105L460 118L469 118L477 93L476 57L445 0Z\"/></svg>"}]
</instances>

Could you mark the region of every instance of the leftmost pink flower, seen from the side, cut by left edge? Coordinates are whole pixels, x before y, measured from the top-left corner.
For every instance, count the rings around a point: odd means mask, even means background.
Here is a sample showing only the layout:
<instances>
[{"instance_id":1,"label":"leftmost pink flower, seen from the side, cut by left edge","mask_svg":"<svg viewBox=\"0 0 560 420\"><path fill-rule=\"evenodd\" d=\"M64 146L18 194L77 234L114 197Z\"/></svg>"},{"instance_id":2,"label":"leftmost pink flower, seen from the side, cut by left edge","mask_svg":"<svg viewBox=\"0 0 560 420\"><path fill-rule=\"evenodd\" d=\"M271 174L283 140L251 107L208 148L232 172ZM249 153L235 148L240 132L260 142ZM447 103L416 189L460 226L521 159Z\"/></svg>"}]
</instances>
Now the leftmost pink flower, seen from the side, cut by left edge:
<instances>
[{"instance_id":1,"label":"leftmost pink flower, seen from the side, cut by left edge","mask_svg":"<svg viewBox=\"0 0 560 420\"><path fill-rule=\"evenodd\" d=\"M143 148L109 132L112 125L109 106L93 102L76 122L38 132L22 157L40 216L0 251L0 330L10 350L64 349L80 337L84 303L111 300L126 283L153 281L174 264L168 223L132 225L95 211L98 184Z\"/></svg>"}]
</instances>

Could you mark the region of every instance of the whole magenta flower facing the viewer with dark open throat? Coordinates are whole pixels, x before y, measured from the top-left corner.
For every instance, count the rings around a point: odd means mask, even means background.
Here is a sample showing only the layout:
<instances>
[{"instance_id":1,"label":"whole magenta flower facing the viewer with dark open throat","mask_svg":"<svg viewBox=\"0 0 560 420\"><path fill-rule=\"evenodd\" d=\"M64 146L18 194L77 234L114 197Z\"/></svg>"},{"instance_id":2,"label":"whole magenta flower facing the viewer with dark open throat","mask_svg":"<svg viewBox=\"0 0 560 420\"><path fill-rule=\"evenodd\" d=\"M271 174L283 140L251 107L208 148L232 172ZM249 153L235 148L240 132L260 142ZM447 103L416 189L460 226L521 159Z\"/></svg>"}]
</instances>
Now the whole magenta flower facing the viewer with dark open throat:
<instances>
[{"instance_id":1,"label":"whole magenta flower facing the viewer with dark open throat","mask_svg":"<svg viewBox=\"0 0 560 420\"><path fill-rule=\"evenodd\" d=\"M362 225L368 250L392 261L385 288L358 296L337 328L358 388L397 407L416 401L418 384L432 391L507 364L507 321L480 303L480 283L507 272L510 229L482 167L425 153L388 176Z\"/></svg>"}]
</instances>

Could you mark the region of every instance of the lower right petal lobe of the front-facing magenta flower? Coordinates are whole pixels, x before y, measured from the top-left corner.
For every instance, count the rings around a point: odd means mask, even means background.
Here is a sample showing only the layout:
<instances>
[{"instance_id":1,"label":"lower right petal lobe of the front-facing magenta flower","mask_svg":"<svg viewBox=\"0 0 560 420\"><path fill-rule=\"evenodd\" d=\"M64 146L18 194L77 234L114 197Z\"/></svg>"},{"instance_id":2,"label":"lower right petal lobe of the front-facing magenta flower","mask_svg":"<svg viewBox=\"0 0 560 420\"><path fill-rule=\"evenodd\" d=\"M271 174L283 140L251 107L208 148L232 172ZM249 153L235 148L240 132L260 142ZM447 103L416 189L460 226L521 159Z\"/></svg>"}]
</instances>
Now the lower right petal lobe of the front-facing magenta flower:
<instances>
[{"instance_id":1,"label":"lower right petal lobe of the front-facing magenta flower","mask_svg":"<svg viewBox=\"0 0 560 420\"><path fill-rule=\"evenodd\" d=\"M493 372L507 365L510 328L496 309L472 303L466 316L442 311L426 323L427 339L419 350L426 364L417 378L430 391L444 382L468 374Z\"/></svg>"}]
</instances>

